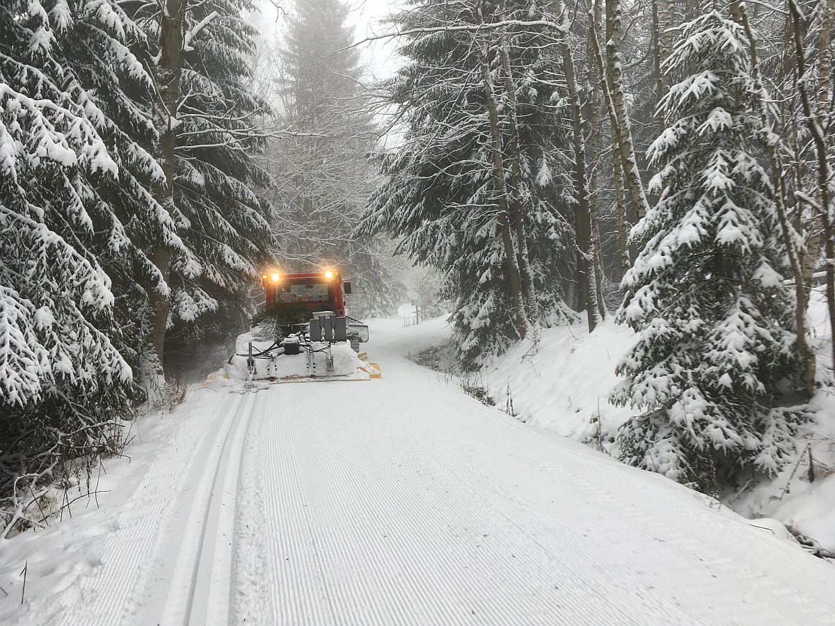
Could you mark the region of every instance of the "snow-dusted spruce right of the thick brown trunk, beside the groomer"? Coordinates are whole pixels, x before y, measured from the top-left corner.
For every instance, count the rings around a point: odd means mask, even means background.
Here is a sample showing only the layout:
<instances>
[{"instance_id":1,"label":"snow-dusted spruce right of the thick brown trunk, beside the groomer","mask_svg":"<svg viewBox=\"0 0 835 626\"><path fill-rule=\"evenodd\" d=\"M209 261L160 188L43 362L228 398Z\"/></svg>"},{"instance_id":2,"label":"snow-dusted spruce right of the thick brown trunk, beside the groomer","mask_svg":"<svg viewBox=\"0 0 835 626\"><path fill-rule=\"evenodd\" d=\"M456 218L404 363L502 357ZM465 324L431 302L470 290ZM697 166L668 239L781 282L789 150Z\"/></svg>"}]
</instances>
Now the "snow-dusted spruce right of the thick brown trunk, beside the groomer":
<instances>
[{"instance_id":1,"label":"snow-dusted spruce right of the thick brown trunk, beside the groomer","mask_svg":"<svg viewBox=\"0 0 835 626\"><path fill-rule=\"evenodd\" d=\"M247 0L195 3L190 28L211 19L186 51L182 78L182 123L175 183L175 220L202 265L200 281L175 272L173 314L190 322L208 307L203 293L220 304L195 330L229 329L248 311L251 285L272 265L271 205L259 192L271 185L262 167L266 139L256 118L268 110L251 93L256 31L245 19ZM194 297L191 294L196 294Z\"/></svg>"}]
</instances>

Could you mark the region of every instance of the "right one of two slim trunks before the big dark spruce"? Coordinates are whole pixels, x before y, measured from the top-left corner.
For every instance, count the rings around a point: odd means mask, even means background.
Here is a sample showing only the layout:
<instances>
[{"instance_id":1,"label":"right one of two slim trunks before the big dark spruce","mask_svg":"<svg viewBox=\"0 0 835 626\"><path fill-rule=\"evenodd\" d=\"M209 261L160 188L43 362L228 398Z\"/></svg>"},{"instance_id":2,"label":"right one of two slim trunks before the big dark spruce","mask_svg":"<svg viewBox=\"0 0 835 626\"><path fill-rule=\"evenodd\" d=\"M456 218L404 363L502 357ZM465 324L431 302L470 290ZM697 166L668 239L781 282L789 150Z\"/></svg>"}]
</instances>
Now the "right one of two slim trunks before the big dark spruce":
<instances>
[{"instance_id":1,"label":"right one of two slim trunks before the big dark spruce","mask_svg":"<svg viewBox=\"0 0 835 626\"><path fill-rule=\"evenodd\" d=\"M498 13L504 16L504 0L499 0ZM522 162L521 150L519 149L519 117L517 115L516 83L514 83L513 70L510 67L510 55L506 43L501 45L502 67L504 68L504 89L508 97L508 113L510 121L510 211L513 216L516 241L519 245L519 271L522 280L522 287L527 300L525 310L531 323L538 319L536 289L534 287L534 272L530 266L528 250L528 234L524 230L524 215L519 197L519 179Z\"/></svg>"}]
</instances>

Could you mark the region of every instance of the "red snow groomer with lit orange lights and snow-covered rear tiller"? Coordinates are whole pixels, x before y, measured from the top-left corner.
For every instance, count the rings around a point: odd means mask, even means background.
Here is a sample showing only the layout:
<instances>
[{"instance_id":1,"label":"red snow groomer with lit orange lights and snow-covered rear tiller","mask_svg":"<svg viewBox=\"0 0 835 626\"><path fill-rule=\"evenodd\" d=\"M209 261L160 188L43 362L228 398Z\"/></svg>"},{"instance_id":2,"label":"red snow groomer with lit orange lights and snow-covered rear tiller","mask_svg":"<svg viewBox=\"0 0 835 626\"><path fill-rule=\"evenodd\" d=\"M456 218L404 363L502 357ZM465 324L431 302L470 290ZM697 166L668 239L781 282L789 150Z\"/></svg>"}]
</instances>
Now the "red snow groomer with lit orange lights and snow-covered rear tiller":
<instances>
[{"instance_id":1,"label":"red snow groomer with lit orange lights and snow-covered rear tiller","mask_svg":"<svg viewBox=\"0 0 835 626\"><path fill-rule=\"evenodd\" d=\"M238 337L230 378L248 381L362 381L379 378L360 343L368 326L345 315L351 283L337 271L261 276L266 306ZM245 368L245 369L244 369Z\"/></svg>"}]
</instances>

